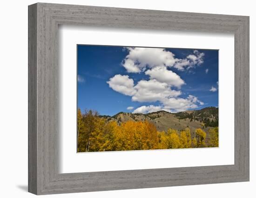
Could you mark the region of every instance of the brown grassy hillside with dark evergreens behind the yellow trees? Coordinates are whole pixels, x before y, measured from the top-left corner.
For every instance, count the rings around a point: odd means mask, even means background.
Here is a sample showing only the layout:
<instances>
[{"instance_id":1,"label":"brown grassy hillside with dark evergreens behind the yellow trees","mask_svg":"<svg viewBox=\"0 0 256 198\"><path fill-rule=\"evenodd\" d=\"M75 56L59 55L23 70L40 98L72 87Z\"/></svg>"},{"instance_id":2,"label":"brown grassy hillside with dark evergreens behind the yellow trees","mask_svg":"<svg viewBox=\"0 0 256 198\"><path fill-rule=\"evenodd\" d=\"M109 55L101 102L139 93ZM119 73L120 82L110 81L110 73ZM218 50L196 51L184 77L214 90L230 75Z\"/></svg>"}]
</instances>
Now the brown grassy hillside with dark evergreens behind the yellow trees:
<instances>
[{"instance_id":1,"label":"brown grassy hillside with dark evergreens behind the yellow trees","mask_svg":"<svg viewBox=\"0 0 256 198\"><path fill-rule=\"evenodd\" d=\"M101 115L107 121L116 121L118 124L126 121L149 121L158 131L167 131L168 128L181 131L189 128L192 138L195 137L195 129L202 128L207 134L210 128L218 126L218 108L207 107L200 110L189 110L179 113L157 111L148 114L133 114L119 112L116 115Z\"/></svg>"}]
</instances>

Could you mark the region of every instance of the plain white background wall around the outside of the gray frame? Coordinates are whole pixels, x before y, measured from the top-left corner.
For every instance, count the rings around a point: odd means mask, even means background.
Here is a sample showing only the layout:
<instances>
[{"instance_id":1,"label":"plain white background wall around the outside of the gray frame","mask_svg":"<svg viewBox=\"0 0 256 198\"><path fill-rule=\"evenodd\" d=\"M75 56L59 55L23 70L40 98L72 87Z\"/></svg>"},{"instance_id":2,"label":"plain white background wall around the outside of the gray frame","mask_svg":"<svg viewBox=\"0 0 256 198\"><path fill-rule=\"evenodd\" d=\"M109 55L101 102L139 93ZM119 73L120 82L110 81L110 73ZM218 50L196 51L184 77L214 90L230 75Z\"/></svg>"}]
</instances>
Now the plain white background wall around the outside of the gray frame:
<instances>
[{"instance_id":1,"label":"plain white background wall around the outside of the gray frame","mask_svg":"<svg viewBox=\"0 0 256 198\"><path fill-rule=\"evenodd\" d=\"M35 0L1 2L0 29L0 197L29 198L27 192L27 6ZM51 195L56 198L254 198L256 197L256 12L252 0L45 0L49 3L250 16L250 182Z\"/></svg>"}]
</instances>

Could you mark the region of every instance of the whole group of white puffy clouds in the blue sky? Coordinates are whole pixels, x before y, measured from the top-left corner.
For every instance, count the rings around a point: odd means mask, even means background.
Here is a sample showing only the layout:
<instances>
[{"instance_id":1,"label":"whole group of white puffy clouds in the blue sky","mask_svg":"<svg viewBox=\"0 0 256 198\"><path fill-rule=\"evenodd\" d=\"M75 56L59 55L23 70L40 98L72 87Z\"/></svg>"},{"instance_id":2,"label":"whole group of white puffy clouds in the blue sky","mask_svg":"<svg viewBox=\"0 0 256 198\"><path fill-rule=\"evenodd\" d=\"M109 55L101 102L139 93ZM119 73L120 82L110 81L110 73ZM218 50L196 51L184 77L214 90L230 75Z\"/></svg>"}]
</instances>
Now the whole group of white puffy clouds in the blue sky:
<instances>
[{"instance_id":1,"label":"whole group of white puffy clouds in the blue sky","mask_svg":"<svg viewBox=\"0 0 256 198\"><path fill-rule=\"evenodd\" d=\"M175 58L175 55L163 48L143 48L128 47L124 48L128 55L122 62L122 66L128 73L144 72L149 76L149 80L139 80L134 84L134 80L128 75L117 74L107 82L113 90L131 96L134 102L159 102L159 106L141 106L135 109L134 113L148 113L153 111L165 110L178 112L188 109L195 109L204 102L197 97L189 95L181 97L182 85L184 80L171 67L177 70L185 70L203 63L204 53L197 50L193 51L183 59ZM205 70L208 73L208 69ZM212 87L210 91L216 88ZM128 110L134 107L128 107Z\"/></svg>"}]
</instances>

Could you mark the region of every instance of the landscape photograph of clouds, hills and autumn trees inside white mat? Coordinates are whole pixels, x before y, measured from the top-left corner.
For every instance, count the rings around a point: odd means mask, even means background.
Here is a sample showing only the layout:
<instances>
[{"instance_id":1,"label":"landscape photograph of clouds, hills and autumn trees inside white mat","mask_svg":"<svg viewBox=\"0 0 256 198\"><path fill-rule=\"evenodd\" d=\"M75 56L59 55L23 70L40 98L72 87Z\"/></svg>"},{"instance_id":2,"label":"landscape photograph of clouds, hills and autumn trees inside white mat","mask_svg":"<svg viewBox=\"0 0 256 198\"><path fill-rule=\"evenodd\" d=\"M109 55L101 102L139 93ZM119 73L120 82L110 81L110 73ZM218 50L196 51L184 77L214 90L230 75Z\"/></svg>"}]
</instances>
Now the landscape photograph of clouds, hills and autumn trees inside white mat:
<instances>
[{"instance_id":1,"label":"landscape photograph of clouds, hills and autumn trees inside white mat","mask_svg":"<svg viewBox=\"0 0 256 198\"><path fill-rule=\"evenodd\" d=\"M219 50L77 45L77 153L219 147Z\"/></svg>"}]
</instances>

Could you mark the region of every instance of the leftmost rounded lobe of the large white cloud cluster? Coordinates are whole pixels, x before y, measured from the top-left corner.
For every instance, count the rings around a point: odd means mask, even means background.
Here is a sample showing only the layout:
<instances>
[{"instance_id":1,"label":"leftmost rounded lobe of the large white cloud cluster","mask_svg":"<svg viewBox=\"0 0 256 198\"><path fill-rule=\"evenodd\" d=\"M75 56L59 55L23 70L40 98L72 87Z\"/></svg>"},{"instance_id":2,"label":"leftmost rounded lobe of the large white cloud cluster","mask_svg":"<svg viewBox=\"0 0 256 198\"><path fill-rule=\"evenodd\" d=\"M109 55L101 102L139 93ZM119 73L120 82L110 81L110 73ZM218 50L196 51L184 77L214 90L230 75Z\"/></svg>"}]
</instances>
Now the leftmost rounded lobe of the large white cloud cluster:
<instances>
[{"instance_id":1,"label":"leftmost rounded lobe of the large white cloud cluster","mask_svg":"<svg viewBox=\"0 0 256 198\"><path fill-rule=\"evenodd\" d=\"M127 75L122 76L117 74L110 78L107 83L110 88L126 96L133 96L136 93L136 90L134 89L134 81Z\"/></svg>"}]
</instances>

